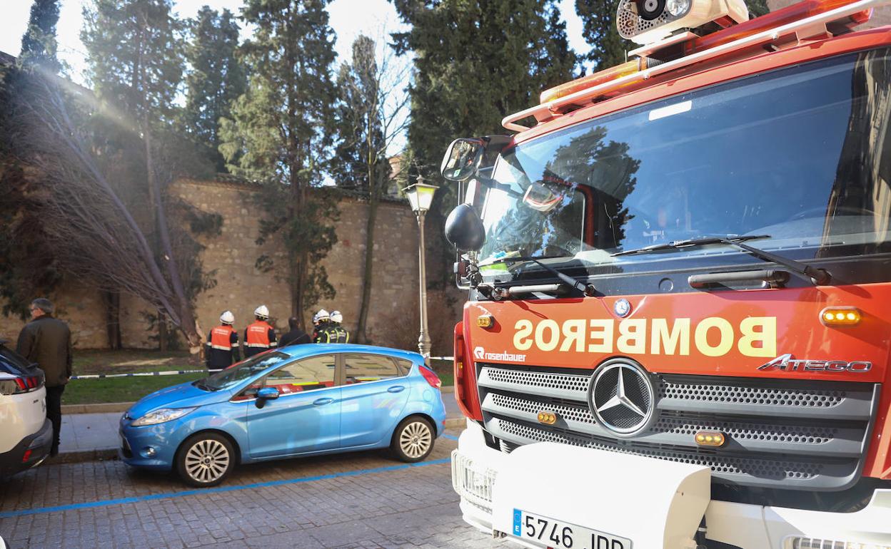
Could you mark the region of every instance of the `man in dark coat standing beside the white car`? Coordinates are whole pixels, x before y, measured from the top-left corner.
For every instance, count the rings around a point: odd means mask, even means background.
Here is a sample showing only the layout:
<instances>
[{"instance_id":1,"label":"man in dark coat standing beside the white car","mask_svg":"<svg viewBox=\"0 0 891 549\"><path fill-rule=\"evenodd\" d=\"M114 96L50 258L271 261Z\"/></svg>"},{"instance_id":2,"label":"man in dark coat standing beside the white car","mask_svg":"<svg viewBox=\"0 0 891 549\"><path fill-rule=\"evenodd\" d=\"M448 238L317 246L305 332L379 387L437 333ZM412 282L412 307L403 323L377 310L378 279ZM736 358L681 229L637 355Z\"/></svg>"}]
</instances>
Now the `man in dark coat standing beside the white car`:
<instances>
[{"instance_id":1,"label":"man in dark coat standing beside the white car","mask_svg":"<svg viewBox=\"0 0 891 549\"><path fill-rule=\"evenodd\" d=\"M59 453L61 429L61 393L71 377L71 331L60 319L53 318L53 303L38 298L31 302L31 320L21 328L16 351L44 371L46 377L46 416L53 424L53 448Z\"/></svg>"}]
</instances>

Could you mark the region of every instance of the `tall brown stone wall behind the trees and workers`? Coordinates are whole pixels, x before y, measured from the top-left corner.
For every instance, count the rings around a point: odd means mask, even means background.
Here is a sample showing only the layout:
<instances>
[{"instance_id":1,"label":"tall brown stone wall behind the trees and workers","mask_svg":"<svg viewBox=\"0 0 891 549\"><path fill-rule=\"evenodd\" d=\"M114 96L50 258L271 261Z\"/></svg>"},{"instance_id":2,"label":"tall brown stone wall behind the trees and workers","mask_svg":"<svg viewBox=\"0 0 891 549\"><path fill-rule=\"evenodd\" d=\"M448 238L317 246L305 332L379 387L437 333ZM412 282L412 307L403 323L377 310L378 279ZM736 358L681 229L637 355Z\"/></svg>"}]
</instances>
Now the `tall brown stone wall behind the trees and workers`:
<instances>
[{"instance_id":1,"label":"tall brown stone wall behind the trees and workers","mask_svg":"<svg viewBox=\"0 0 891 549\"><path fill-rule=\"evenodd\" d=\"M234 182L176 182L173 191L208 213L223 217L221 234L200 238L205 270L216 270L217 286L198 297L200 327L205 332L217 325L219 315L233 311L241 331L253 319L257 305L265 304L275 327L286 331L290 316L290 294L283 278L286 256L281 242L271 238L257 245L258 219L249 185ZM338 243L323 260L337 296L319 304L328 311L339 310L347 329L355 330L362 298L365 223L368 204L360 198L339 199ZM429 227L432 232L436 228ZM428 238L433 241L434 238ZM280 266L273 272L257 270L260 254L271 256ZM432 276L432 275L431 275ZM373 343L415 349L418 335L418 226L404 200L387 199L380 204L375 226L374 268L368 335ZM49 296L61 319L69 322L75 344L81 349L108 345L102 298L98 292L68 280ZM450 354L451 327L460 319L462 294L454 288L431 292L431 331L435 351ZM156 333L145 316L151 306L130 295L121 296L121 336L125 347L154 348ZM307 319L308 320L308 319ZM0 339L13 340L22 326L20 319L0 316Z\"/></svg>"}]
</instances>

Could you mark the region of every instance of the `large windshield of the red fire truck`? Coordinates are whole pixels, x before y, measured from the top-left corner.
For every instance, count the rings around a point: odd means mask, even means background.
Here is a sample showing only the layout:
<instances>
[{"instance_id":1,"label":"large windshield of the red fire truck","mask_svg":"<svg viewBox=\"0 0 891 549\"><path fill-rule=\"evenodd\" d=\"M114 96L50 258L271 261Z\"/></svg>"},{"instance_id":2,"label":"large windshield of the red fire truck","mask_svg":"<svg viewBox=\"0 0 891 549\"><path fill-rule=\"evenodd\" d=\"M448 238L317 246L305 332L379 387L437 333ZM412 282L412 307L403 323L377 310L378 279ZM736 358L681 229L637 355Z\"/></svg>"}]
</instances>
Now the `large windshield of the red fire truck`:
<instances>
[{"instance_id":1,"label":"large windshield of the red fire truck","mask_svg":"<svg viewBox=\"0 0 891 549\"><path fill-rule=\"evenodd\" d=\"M752 244L798 259L888 251L889 59L879 50L776 70L520 144L483 183L481 263L572 258L590 272L707 254L755 261L732 246L613 255L707 236L766 236ZM498 267L489 272L507 271Z\"/></svg>"}]
</instances>

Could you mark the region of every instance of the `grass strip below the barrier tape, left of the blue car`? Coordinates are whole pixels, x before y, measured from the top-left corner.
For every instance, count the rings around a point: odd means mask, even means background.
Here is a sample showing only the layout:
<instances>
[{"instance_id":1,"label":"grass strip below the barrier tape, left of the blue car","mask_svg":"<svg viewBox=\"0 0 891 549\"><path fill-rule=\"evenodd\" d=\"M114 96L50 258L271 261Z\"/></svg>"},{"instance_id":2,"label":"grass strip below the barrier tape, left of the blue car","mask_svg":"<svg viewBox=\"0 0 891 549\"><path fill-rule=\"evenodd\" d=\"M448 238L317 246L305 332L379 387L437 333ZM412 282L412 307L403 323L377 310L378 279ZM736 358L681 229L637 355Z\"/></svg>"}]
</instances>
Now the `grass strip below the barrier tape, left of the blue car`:
<instances>
[{"instance_id":1,"label":"grass strip below the barrier tape, left of the blue car","mask_svg":"<svg viewBox=\"0 0 891 549\"><path fill-rule=\"evenodd\" d=\"M98 404L103 402L133 402L150 392L170 385L194 381L206 374L159 375L157 377L112 377L104 379L75 379L65 386L62 404Z\"/></svg>"}]
</instances>

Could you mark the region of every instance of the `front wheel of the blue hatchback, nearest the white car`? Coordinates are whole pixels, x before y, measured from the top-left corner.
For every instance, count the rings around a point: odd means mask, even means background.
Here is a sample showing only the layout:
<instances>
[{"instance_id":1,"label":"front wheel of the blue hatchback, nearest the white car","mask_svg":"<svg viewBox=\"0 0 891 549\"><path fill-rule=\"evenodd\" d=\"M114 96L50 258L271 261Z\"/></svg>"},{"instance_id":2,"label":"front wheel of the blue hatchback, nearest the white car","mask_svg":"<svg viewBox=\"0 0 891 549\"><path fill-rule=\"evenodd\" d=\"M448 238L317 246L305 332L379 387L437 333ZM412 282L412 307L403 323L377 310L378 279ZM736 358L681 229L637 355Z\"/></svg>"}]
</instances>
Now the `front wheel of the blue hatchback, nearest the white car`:
<instances>
[{"instance_id":1,"label":"front wheel of the blue hatchback, nearest the white car","mask_svg":"<svg viewBox=\"0 0 891 549\"><path fill-rule=\"evenodd\" d=\"M217 486L229 476L235 456L232 443L216 432L200 432L183 443L176 456L176 472L199 488Z\"/></svg>"}]
</instances>

